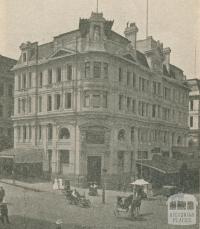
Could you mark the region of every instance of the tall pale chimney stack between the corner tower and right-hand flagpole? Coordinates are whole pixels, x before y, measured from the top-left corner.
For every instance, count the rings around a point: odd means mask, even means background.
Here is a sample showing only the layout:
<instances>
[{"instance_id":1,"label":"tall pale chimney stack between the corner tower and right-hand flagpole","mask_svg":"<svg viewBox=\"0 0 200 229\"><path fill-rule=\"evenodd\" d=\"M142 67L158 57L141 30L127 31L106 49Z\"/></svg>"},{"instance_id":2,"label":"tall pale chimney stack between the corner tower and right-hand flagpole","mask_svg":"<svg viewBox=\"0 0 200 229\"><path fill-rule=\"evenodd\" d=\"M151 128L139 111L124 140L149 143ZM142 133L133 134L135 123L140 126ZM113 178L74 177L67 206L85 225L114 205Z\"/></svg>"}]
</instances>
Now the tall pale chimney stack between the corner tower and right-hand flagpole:
<instances>
[{"instance_id":1,"label":"tall pale chimney stack between the corner tower and right-hand flagpole","mask_svg":"<svg viewBox=\"0 0 200 229\"><path fill-rule=\"evenodd\" d=\"M131 44L134 49L136 49L137 32L138 28L135 23L130 23L130 26L129 23L127 23L124 35L129 41L131 41Z\"/></svg>"}]
</instances>

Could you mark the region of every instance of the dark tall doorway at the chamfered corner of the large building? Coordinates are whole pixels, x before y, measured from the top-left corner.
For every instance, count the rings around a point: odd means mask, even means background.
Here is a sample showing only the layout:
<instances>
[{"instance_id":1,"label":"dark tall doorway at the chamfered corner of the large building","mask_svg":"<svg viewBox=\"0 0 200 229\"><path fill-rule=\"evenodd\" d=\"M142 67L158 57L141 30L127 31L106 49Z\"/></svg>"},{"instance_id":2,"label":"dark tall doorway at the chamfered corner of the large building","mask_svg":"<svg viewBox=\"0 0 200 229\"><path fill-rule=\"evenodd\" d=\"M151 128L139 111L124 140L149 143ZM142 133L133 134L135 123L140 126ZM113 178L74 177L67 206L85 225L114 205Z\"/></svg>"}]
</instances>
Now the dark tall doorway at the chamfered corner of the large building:
<instances>
[{"instance_id":1,"label":"dark tall doorway at the chamfered corner of the large building","mask_svg":"<svg viewBox=\"0 0 200 229\"><path fill-rule=\"evenodd\" d=\"M87 181L101 183L101 157L87 157Z\"/></svg>"}]
</instances>

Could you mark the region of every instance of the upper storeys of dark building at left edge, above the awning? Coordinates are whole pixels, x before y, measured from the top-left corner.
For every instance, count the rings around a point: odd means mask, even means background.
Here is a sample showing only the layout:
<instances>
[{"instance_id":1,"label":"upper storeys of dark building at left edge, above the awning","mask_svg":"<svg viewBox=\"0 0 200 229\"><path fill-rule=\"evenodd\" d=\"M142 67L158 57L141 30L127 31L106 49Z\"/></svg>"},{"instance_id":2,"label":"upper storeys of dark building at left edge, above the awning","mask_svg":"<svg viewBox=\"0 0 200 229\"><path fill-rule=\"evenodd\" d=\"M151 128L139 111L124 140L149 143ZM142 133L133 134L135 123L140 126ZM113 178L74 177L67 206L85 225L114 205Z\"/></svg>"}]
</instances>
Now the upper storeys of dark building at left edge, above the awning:
<instances>
[{"instance_id":1,"label":"upper storeys of dark building at left edge, above the awning","mask_svg":"<svg viewBox=\"0 0 200 229\"><path fill-rule=\"evenodd\" d=\"M11 115L14 107L14 74L11 68L15 64L16 60L0 55L0 135L11 139L13 138Z\"/></svg>"}]
</instances>

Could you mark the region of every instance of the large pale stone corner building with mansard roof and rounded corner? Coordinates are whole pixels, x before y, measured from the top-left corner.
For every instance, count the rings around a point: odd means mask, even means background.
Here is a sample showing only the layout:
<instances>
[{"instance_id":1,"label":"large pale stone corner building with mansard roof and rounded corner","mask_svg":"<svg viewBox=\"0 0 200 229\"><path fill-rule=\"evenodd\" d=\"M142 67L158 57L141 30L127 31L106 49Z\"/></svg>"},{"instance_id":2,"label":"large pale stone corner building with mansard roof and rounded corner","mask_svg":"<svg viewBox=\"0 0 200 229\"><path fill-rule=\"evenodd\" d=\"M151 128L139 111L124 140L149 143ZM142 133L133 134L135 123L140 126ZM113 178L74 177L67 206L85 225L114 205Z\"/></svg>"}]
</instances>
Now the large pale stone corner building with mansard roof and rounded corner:
<instances>
[{"instance_id":1,"label":"large pale stone corner building with mansard roof and rounded corner","mask_svg":"<svg viewBox=\"0 0 200 229\"><path fill-rule=\"evenodd\" d=\"M137 159L186 145L188 87L170 49L112 25L92 13L50 43L23 43L13 68L16 152L42 149L43 170L76 183L120 185Z\"/></svg>"}]
</instances>

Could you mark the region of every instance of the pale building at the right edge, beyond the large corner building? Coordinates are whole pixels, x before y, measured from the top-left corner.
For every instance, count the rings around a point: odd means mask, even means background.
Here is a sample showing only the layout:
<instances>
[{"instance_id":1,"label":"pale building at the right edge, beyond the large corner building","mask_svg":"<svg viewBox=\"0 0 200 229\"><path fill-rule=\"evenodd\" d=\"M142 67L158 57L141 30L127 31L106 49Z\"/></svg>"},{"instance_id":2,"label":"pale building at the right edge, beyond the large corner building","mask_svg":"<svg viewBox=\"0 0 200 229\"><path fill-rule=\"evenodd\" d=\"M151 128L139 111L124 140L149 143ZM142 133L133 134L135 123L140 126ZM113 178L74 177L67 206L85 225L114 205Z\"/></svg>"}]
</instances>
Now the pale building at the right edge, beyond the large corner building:
<instances>
[{"instance_id":1,"label":"pale building at the right edge, beyond the large corner building","mask_svg":"<svg viewBox=\"0 0 200 229\"><path fill-rule=\"evenodd\" d=\"M199 151L200 147L200 80L189 79L189 119L188 125L190 132L188 136L188 144L191 150Z\"/></svg>"}]
</instances>

